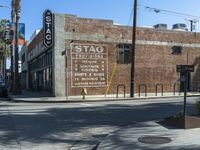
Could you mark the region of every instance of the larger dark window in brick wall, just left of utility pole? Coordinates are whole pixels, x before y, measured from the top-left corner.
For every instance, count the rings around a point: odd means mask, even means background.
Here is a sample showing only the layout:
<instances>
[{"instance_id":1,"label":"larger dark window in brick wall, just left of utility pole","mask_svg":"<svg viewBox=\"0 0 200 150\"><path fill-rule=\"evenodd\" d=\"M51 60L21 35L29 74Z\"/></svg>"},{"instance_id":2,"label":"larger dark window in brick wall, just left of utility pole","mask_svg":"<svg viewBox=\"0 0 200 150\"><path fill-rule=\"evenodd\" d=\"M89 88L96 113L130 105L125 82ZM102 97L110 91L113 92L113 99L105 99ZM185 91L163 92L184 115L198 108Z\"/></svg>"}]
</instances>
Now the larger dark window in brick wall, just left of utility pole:
<instances>
[{"instance_id":1,"label":"larger dark window in brick wall, just left of utility pole","mask_svg":"<svg viewBox=\"0 0 200 150\"><path fill-rule=\"evenodd\" d=\"M131 63L131 44L119 44L117 46L117 63Z\"/></svg>"}]
</instances>

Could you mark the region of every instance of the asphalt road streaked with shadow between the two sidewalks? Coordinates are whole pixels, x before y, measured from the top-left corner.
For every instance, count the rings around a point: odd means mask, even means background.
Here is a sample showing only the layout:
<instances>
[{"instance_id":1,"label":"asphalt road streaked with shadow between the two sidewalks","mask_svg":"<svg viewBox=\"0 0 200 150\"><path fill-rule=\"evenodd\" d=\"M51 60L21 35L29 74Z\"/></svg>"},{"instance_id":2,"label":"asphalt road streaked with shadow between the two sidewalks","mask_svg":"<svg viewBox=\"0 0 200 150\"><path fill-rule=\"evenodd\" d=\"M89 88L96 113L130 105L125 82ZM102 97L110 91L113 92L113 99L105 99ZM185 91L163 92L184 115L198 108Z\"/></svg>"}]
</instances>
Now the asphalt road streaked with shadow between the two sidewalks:
<instances>
[{"instance_id":1,"label":"asphalt road streaked with shadow between the two sidewalks","mask_svg":"<svg viewBox=\"0 0 200 150\"><path fill-rule=\"evenodd\" d=\"M188 98L194 111L199 98ZM0 99L1 150L94 150L108 134L182 111L183 98L90 103L13 103Z\"/></svg>"}]
</instances>

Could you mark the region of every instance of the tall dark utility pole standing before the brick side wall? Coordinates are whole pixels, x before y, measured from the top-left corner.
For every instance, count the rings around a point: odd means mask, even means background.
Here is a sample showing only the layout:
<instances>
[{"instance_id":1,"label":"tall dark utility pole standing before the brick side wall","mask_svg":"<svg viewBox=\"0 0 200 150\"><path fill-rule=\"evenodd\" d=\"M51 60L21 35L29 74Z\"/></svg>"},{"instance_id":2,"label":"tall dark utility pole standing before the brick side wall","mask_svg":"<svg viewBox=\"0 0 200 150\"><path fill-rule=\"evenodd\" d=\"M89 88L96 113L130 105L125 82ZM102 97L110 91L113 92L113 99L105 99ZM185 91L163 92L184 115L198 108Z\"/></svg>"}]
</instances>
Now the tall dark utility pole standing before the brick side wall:
<instances>
[{"instance_id":1,"label":"tall dark utility pole standing before the brick side wall","mask_svg":"<svg viewBox=\"0 0 200 150\"><path fill-rule=\"evenodd\" d=\"M134 97L134 84L135 84L135 41L136 41L136 25L137 25L136 21L137 21L137 0L134 0L130 97Z\"/></svg>"}]
</instances>

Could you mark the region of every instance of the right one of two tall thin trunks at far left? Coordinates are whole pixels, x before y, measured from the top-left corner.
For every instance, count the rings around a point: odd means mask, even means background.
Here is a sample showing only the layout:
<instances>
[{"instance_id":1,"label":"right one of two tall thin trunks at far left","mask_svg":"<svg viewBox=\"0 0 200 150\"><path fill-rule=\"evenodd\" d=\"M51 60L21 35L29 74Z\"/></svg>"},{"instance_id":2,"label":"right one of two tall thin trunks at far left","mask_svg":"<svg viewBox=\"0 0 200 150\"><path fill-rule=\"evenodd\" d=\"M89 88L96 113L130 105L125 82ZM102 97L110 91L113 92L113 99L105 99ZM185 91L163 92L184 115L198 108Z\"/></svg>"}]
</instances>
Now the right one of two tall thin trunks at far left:
<instances>
[{"instance_id":1,"label":"right one of two tall thin trunks at far left","mask_svg":"<svg viewBox=\"0 0 200 150\"><path fill-rule=\"evenodd\" d=\"M13 94L20 94L20 84L19 84L19 68L18 68L18 24L20 18L20 0L12 0L12 17L15 22L14 26L14 61L15 61L15 69L14 69L14 87Z\"/></svg>"}]
</instances>

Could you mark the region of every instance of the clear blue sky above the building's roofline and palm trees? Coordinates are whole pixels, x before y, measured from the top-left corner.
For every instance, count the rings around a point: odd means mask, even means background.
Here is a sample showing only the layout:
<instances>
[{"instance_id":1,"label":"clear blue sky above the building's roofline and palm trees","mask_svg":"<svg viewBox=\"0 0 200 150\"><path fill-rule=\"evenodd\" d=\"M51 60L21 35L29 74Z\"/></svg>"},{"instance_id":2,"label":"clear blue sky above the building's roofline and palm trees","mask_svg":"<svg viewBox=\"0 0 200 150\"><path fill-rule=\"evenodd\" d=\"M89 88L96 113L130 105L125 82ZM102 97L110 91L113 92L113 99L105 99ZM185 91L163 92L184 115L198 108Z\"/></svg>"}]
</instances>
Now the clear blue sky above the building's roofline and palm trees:
<instances>
[{"instance_id":1,"label":"clear blue sky above the building's roofline and palm trees","mask_svg":"<svg viewBox=\"0 0 200 150\"><path fill-rule=\"evenodd\" d=\"M1 5L10 5L11 0L0 0ZM186 23L188 16L173 13L155 13L145 6L200 16L200 0L138 0L138 26L153 26L166 23ZM26 24L26 40L39 28L42 28L42 13L50 9L55 13L75 14L80 17L110 19L115 23L132 25L129 21L133 0L21 0L20 22ZM0 7L0 19L10 19L10 8ZM131 17L132 18L132 17ZM200 23L197 23L200 31Z\"/></svg>"}]
</instances>

